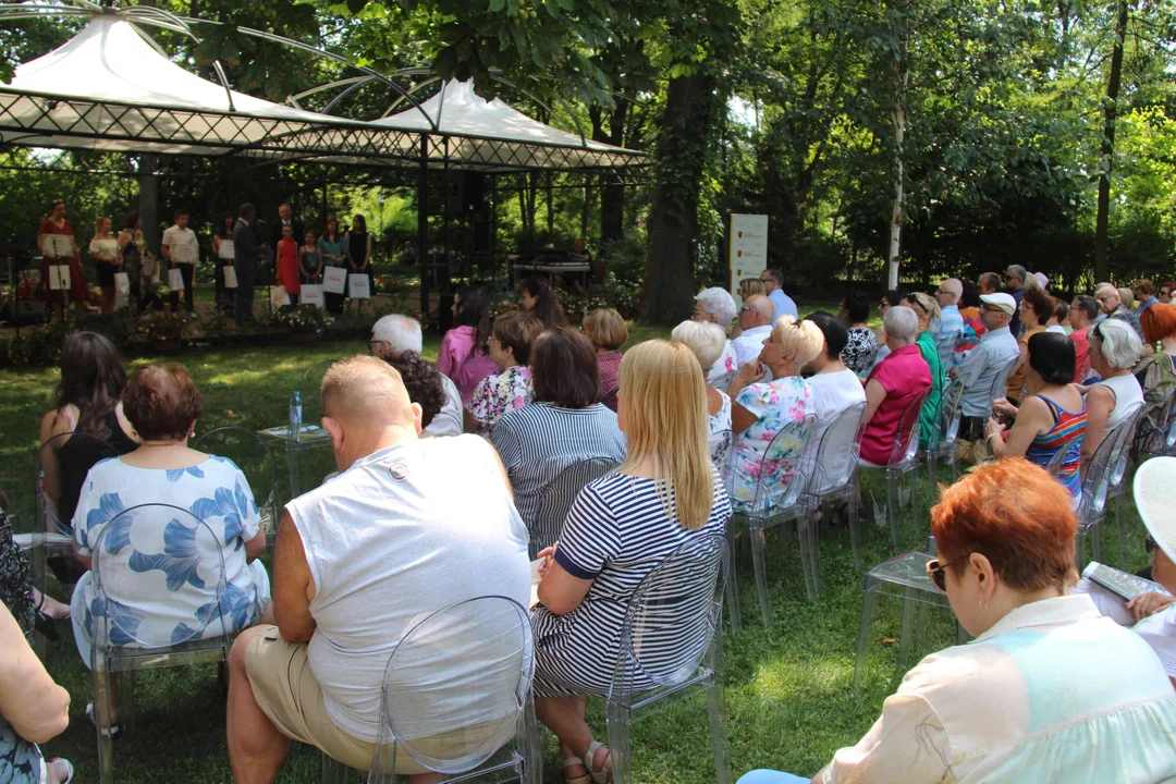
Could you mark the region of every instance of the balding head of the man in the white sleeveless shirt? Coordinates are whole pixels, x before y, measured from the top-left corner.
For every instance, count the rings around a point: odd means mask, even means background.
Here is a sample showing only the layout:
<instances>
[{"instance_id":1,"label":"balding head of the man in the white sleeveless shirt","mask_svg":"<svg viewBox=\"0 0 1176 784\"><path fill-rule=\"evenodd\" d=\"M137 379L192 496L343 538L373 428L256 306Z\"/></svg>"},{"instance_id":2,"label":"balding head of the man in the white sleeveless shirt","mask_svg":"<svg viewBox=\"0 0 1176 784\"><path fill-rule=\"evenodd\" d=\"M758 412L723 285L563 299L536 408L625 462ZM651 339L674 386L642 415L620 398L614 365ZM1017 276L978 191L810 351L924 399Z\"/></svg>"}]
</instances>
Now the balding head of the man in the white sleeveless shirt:
<instances>
[{"instance_id":1,"label":"balding head of the man in the white sleeveless shirt","mask_svg":"<svg viewBox=\"0 0 1176 784\"><path fill-rule=\"evenodd\" d=\"M353 356L322 377L322 414L345 430L413 427L413 403L396 369L374 356Z\"/></svg>"}]
</instances>

